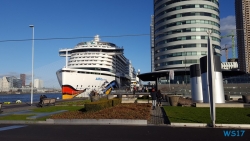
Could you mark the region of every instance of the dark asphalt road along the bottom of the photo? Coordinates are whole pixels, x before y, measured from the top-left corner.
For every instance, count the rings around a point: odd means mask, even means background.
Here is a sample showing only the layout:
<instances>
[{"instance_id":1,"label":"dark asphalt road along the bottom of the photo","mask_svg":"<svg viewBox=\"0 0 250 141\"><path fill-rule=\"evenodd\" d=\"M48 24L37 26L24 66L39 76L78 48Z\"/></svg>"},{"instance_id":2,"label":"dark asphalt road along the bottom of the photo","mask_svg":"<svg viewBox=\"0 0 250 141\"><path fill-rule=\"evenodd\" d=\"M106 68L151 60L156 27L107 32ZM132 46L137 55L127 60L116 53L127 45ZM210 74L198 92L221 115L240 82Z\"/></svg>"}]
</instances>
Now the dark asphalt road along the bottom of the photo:
<instances>
[{"instance_id":1,"label":"dark asphalt road along the bottom of the photo","mask_svg":"<svg viewBox=\"0 0 250 141\"><path fill-rule=\"evenodd\" d=\"M236 136L225 137L225 131ZM243 133L244 131L244 133ZM232 134L233 135L233 134ZM0 125L1 141L247 141L250 129L116 125Z\"/></svg>"}]
</instances>

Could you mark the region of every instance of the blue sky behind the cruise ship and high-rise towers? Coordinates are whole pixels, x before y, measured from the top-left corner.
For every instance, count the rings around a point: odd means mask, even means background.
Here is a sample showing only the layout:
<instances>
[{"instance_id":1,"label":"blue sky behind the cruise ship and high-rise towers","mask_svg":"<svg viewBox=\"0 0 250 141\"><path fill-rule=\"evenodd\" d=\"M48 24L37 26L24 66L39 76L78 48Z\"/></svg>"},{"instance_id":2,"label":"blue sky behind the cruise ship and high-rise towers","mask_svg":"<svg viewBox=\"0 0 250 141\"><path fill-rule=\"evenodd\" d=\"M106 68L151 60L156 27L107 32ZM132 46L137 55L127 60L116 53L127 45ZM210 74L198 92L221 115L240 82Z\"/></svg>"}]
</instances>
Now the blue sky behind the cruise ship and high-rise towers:
<instances>
[{"instance_id":1,"label":"blue sky behind the cruise ship and high-rise towers","mask_svg":"<svg viewBox=\"0 0 250 141\"><path fill-rule=\"evenodd\" d=\"M234 0L219 2L223 36L235 29ZM32 28L29 25L34 25L34 79L42 79L45 87L60 87L56 71L66 63L58 51L91 41L95 35L101 41L123 47L124 55L135 69L148 73L151 71L151 15L153 0L1 0L0 78L19 78L24 73L26 84L31 81ZM230 45L231 39L222 39L221 46L225 44ZM224 54L222 61L225 61Z\"/></svg>"}]
</instances>

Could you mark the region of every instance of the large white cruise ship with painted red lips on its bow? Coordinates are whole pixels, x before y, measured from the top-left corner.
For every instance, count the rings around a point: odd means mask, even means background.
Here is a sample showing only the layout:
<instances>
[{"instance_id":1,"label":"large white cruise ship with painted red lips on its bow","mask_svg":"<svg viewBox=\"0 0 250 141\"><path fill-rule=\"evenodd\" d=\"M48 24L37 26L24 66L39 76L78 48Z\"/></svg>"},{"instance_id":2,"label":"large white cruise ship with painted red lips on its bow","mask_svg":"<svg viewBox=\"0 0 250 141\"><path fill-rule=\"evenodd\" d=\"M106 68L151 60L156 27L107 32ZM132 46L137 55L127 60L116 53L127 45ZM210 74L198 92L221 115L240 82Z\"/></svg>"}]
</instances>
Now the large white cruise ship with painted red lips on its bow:
<instances>
[{"instance_id":1,"label":"large white cruise ship with painted red lips on its bow","mask_svg":"<svg viewBox=\"0 0 250 141\"><path fill-rule=\"evenodd\" d=\"M62 98L88 97L93 91L109 94L112 89L129 87L135 71L123 52L123 47L103 42L99 35L72 49L60 49L59 56L66 57L65 67L56 72Z\"/></svg>"}]
</instances>

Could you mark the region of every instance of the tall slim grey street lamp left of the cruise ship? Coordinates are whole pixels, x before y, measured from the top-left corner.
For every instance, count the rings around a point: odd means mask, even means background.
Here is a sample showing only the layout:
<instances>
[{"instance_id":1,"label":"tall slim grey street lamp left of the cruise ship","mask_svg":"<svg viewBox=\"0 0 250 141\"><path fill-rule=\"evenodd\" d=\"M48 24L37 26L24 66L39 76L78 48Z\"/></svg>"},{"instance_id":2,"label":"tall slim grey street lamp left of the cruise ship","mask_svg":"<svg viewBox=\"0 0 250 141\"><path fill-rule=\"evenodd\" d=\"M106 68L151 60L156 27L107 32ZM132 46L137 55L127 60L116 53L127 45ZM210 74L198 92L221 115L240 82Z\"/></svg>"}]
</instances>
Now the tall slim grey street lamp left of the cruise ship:
<instances>
[{"instance_id":1,"label":"tall slim grey street lamp left of the cruise ship","mask_svg":"<svg viewBox=\"0 0 250 141\"><path fill-rule=\"evenodd\" d=\"M33 91L34 91L34 25L29 25L32 28L32 70L31 70L31 96L30 96L30 105L33 104Z\"/></svg>"}]
</instances>

